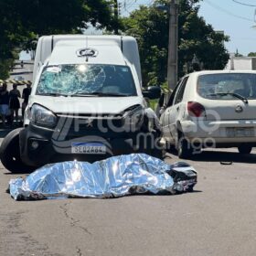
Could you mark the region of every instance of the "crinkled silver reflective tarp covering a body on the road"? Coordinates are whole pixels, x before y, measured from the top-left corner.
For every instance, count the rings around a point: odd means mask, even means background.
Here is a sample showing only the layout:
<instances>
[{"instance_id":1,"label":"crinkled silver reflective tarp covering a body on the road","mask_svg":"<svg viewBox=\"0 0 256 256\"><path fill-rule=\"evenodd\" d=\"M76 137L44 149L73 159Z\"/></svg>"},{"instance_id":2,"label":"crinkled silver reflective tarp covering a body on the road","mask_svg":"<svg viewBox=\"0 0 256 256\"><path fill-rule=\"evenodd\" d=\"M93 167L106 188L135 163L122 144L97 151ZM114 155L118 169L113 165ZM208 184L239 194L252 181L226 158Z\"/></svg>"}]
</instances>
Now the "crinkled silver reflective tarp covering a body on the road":
<instances>
[{"instance_id":1,"label":"crinkled silver reflective tarp covering a body on the road","mask_svg":"<svg viewBox=\"0 0 256 256\"><path fill-rule=\"evenodd\" d=\"M12 197L50 199L67 197L122 197L138 193L192 191L197 172L185 163L167 165L144 154L119 155L95 162L45 165L26 178L9 183Z\"/></svg>"}]
</instances>

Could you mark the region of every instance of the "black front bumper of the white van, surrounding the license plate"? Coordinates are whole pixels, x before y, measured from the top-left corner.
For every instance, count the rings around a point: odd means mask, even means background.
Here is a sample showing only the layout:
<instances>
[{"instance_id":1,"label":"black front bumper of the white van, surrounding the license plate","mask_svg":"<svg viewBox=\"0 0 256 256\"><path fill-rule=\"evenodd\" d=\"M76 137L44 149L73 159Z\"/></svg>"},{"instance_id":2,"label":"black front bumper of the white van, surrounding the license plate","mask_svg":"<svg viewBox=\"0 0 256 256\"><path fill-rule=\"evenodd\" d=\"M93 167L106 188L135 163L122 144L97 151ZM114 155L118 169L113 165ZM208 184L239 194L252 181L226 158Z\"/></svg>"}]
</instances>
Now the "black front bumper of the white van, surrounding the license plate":
<instances>
[{"instance_id":1,"label":"black front bumper of the white van, surrounding the license plate","mask_svg":"<svg viewBox=\"0 0 256 256\"><path fill-rule=\"evenodd\" d=\"M135 149L134 142L136 134L118 134L116 137L108 136L86 136L77 134L69 140L56 139L53 130L34 125L28 125L20 132L19 145L22 161L26 165L39 167L49 163L58 163L62 161L95 162L112 155L126 155L134 152L143 152L143 148ZM107 152L103 155L72 154L71 143L73 142L97 142L106 145ZM33 145L37 144L37 148Z\"/></svg>"}]
</instances>

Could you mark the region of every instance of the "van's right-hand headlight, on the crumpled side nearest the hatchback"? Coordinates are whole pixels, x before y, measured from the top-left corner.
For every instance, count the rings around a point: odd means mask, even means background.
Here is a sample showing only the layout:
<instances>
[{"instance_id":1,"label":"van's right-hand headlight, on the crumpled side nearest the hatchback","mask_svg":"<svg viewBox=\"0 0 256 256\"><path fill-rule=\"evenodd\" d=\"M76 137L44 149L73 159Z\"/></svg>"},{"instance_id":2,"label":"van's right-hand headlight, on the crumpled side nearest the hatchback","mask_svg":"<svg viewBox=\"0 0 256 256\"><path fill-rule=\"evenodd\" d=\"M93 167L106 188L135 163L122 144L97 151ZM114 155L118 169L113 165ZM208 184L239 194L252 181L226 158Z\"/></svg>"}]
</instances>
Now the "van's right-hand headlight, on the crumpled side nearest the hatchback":
<instances>
[{"instance_id":1,"label":"van's right-hand headlight, on the crumpled side nearest the hatchback","mask_svg":"<svg viewBox=\"0 0 256 256\"><path fill-rule=\"evenodd\" d=\"M137 106L132 110L127 110L123 114L123 125L125 128L130 127L130 129L137 130L141 127L144 122L144 108L142 106Z\"/></svg>"}]
</instances>

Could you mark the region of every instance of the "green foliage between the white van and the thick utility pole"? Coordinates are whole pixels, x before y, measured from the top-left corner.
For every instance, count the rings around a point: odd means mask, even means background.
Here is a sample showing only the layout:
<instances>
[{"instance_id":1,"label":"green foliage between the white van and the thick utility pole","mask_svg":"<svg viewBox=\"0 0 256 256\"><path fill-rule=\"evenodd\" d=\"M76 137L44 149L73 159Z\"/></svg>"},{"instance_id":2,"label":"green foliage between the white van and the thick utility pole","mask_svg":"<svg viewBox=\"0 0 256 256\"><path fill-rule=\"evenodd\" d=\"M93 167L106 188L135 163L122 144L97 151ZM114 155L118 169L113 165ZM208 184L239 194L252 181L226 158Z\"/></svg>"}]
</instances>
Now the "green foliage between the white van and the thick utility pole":
<instances>
[{"instance_id":1,"label":"green foliage between the white van and the thick utility pole","mask_svg":"<svg viewBox=\"0 0 256 256\"><path fill-rule=\"evenodd\" d=\"M167 14L155 7L141 6L131 16L123 18L123 26L126 35L137 38L144 86L159 85L166 76L163 69L167 62Z\"/></svg>"}]
</instances>

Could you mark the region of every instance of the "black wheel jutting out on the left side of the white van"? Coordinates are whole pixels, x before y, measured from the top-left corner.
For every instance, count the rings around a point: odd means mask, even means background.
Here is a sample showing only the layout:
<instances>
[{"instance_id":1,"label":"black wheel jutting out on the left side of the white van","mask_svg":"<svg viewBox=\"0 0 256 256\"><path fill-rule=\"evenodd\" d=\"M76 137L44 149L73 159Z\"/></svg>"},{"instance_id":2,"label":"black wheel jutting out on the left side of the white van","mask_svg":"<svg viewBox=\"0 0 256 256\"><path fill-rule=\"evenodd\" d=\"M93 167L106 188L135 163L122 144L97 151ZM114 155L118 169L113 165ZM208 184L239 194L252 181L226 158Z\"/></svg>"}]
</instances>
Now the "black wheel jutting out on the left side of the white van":
<instances>
[{"instance_id":1,"label":"black wheel jutting out on the left side of the white van","mask_svg":"<svg viewBox=\"0 0 256 256\"><path fill-rule=\"evenodd\" d=\"M25 165L20 158L19 133L23 128L18 128L5 136L0 147L0 159L7 170L12 173L31 171L30 166Z\"/></svg>"}]
</instances>

